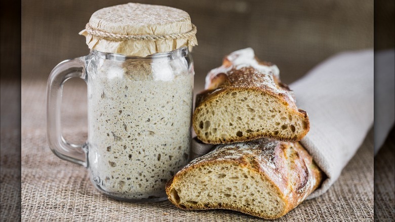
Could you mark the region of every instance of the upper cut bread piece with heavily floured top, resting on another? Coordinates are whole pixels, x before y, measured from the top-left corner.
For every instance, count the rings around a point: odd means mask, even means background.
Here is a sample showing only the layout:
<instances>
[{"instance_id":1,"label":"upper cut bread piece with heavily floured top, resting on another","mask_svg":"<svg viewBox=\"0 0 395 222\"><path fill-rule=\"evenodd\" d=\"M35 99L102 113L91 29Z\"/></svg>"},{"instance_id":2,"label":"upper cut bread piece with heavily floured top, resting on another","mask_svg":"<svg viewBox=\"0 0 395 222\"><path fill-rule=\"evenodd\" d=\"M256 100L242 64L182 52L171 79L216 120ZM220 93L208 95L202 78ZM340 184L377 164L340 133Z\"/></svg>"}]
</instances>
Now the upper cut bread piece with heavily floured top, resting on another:
<instances>
[{"instance_id":1,"label":"upper cut bread piece with heavily floured top, resting on another","mask_svg":"<svg viewBox=\"0 0 395 222\"><path fill-rule=\"evenodd\" d=\"M198 138L211 144L257 138L295 142L310 126L307 113L280 82L277 66L258 61L251 48L231 53L208 73L192 123Z\"/></svg>"}]
</instances>

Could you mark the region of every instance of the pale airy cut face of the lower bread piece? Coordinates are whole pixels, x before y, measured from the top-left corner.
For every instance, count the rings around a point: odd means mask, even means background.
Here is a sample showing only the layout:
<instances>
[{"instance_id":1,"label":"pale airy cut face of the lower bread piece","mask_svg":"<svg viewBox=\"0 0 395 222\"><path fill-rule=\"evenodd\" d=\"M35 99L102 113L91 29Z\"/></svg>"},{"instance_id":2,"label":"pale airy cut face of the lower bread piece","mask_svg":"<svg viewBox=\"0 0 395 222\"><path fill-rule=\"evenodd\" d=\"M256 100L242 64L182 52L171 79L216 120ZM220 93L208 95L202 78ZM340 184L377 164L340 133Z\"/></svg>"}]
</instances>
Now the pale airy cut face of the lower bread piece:
<instances>
[{"instance_id":1,"label":"pale airy cut face of the lower bread piece","mask_svg":"<svg viewBox=\"0 0 395 222\"><path fill-rule=\"evenodd\" d=\"M182 209L232 209L265 218L285 211L279 194L258 172L231 162L199 166L185 173L169 192Z\"/></svg>"}]
</instances>

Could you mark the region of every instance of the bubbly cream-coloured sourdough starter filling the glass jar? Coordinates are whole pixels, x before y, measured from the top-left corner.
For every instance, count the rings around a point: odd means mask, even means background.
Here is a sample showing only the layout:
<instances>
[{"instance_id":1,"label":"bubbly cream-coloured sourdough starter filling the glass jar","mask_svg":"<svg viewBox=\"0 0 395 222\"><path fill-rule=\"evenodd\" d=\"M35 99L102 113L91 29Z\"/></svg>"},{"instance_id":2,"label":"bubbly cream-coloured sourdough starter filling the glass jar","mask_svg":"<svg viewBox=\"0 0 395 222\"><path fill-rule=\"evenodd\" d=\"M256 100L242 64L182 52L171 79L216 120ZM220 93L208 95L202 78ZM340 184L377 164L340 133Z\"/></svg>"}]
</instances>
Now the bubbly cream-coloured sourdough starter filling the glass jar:
<instances>
[{"instance_id":1,"label":"bubbly cream-coloured sourdough starter filling the glass jar","mask_svg":"<svg viewBox=\"0 0 395 222\"><path fill-rule=\"evenodd\" d=\"M96 62L88 77L91 180L116 198L166 197L189 154L193 75L185 58Z\"/></svg>"}]
</instances>

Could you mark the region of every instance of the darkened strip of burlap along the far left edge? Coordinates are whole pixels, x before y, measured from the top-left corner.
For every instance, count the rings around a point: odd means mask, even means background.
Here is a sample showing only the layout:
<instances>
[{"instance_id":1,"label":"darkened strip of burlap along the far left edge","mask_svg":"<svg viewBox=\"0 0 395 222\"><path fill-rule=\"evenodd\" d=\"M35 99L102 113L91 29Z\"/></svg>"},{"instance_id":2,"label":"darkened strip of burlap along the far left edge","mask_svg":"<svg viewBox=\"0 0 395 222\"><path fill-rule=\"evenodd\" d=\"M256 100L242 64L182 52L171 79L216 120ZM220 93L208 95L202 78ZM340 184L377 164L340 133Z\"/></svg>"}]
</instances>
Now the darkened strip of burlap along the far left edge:
<instances>
[{"instance_id":1,"label":"darkened strip of burlap along the far left edge","mask_svg":"<svg viewBox=\"0 0 395 222\"><path fill-rule=\"evenodd\" d=\"M0 85L0 220L21 219L21 136L20 83L4 81Z\"/></svg>"}]
</instances>

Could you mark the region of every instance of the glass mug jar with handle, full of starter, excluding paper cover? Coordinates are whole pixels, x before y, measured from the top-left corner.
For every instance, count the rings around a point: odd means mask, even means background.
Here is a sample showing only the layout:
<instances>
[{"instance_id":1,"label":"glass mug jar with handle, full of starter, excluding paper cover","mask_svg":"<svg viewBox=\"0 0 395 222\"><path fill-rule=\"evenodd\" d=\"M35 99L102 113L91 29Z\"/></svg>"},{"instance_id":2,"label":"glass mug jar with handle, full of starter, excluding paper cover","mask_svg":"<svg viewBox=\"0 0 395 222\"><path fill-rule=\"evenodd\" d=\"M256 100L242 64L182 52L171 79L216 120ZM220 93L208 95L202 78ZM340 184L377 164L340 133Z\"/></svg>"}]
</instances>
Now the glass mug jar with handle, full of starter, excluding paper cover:
<instances>
[{"instance_id":1,"label":"glass mug jar with handle, full of starter, excluding paper cover","mask_svg":"<svg viewBox=\"0 0 395 222\"><path fill-rule=\"evenodd\" d=\"M187 47L146 57L91 50L59 63L47 89L47 128L59 158L85 166L94 186L131 202L167 199L165 184L189 156L193 62ZM88 141L61 135L64 82L88 85Z\"/></svg>"}]
</instances>

